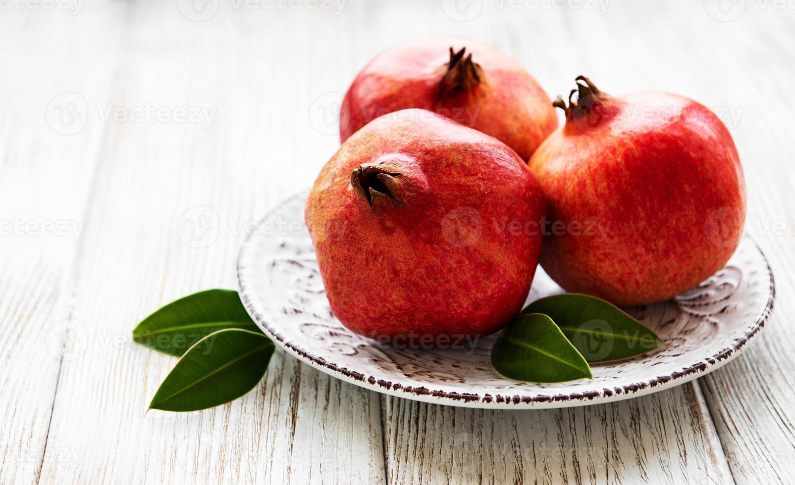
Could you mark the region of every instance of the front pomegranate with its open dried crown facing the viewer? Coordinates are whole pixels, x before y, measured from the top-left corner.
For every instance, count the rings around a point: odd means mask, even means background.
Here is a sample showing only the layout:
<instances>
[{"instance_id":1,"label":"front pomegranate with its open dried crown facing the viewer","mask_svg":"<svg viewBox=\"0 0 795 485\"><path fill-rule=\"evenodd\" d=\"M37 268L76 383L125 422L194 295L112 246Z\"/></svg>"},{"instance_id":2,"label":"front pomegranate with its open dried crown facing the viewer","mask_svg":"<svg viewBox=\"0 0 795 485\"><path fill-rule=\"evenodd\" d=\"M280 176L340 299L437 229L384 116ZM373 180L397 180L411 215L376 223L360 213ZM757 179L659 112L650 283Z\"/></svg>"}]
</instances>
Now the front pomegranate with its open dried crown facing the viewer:
<instances>
[{"instance_id":1,"label":"front pomegranate with its open dried crown facing the viewer","mask_svg":"<svg viewBox=\"0 0 795 485\"><path fill-rule=\"evenodd\" d=\"M372 206L362 187L373 189ZM545 210L537 180L505 144L402 110L343 143L305 217L333 314L386 340L502 328L521 310L541 252L541 233L518 223L532 229Z\"/></svg>"}]
</instances>

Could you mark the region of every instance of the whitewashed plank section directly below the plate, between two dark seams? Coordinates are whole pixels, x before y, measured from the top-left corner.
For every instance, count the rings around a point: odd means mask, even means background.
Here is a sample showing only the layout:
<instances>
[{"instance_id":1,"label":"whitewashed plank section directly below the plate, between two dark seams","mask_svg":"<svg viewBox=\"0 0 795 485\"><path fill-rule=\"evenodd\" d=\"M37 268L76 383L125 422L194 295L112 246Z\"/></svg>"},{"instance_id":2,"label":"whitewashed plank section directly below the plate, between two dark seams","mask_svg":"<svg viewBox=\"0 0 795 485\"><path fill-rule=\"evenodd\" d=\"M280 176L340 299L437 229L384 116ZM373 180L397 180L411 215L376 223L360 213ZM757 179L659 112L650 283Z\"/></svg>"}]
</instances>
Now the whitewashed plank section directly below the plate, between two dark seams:
<instances>
[{"instance_id":1,"label":"whitewashed plank section directly below the plate, between two dark seams","mask_svg":"<svg viewBox=\"0 0 795 485\"><path fill-rule=\"evenodd\" d=\"M389 483L731 483L697 386L561 410L386 398Z\"/></svg>"}]
</instances>

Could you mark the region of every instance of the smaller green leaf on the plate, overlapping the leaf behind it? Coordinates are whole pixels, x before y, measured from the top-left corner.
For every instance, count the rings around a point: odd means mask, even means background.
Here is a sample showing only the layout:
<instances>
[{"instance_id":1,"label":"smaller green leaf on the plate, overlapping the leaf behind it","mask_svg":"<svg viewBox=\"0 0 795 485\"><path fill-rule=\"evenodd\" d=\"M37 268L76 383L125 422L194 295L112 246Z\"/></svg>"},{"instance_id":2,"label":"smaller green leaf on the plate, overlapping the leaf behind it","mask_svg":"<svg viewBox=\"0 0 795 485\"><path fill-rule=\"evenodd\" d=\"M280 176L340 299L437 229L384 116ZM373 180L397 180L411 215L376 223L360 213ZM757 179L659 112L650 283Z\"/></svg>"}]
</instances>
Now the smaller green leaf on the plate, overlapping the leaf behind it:
<instances>
[{"instance_id":1,"label":"smaller green leaf on the plate, overlapping the leaf behind it","mask_svg":"<svg viewBox=\"0 0 795 485\"><path fill-rule=\"evenodd\" d=\"M588 362L542 314L514 318L491 348L491 365L509 379L533 383L593 379Z\"/></svg>"}]
</instances>

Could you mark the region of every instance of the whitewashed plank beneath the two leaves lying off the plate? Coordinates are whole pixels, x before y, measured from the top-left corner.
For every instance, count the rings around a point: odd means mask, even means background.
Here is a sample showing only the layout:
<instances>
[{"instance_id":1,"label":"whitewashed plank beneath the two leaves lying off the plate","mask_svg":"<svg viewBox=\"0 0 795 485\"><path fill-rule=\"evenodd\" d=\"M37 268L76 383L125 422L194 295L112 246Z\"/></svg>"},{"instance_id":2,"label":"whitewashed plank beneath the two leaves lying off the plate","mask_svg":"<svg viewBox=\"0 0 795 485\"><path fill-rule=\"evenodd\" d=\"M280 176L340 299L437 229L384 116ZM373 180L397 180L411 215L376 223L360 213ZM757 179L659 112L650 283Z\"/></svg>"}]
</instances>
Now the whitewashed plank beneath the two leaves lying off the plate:
<instances>
[{"instance_id":1,"label":"whitewashed plank beneath the two leaves lying off the plate","mask_svg":"<svg viewBox=\"0 0 795 485\"><path fill-rule=\"evenodd\" d=\"M208 126L110 124L76 270L73 314L89 343L61 368L41 482L382 482L378 395L283 352L231 404L145 414L176 360L133 345L135 323L192 291L235 287L245 223L308 184L306 167L338 144L313 134L307 115L315 98L307 93L328 83L338 61L315 56L327 48L297 34L332 13L222 9L196 23L174 9L130 6L111 101L216 115ZM292 41L273 44L280 38ZM312 70L275 68L308 59ZM50 450L59 449L78 452L58 460Z\"/></svg>"}]
</instances>

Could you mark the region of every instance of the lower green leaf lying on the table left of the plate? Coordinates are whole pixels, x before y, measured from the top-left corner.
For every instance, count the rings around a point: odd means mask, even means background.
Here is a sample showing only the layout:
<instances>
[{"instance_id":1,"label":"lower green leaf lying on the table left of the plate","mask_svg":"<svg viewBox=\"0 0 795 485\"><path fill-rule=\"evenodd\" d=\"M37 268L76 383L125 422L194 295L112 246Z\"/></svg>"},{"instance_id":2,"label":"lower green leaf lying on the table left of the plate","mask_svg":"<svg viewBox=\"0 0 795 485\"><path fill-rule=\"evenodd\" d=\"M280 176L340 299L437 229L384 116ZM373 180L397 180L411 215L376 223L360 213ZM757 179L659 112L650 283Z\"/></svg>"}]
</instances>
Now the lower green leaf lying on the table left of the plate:
<instances>
[{"instance_id":1,"label":"lower green leaf lying on the table left of the plate","mask_svg":"<svg viewBox=\"0 0 795 485\"><path fill-rule=\"evenodd\" d=\"M155 393L149 409L197 411L219 406L251 391L273 355L262 333L225 329L211 333L176 363Z\"/></svg>"}]
</instances>

